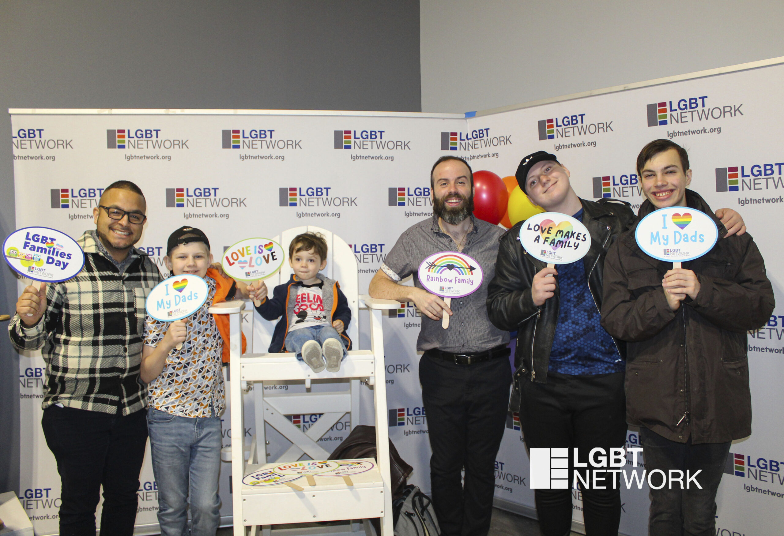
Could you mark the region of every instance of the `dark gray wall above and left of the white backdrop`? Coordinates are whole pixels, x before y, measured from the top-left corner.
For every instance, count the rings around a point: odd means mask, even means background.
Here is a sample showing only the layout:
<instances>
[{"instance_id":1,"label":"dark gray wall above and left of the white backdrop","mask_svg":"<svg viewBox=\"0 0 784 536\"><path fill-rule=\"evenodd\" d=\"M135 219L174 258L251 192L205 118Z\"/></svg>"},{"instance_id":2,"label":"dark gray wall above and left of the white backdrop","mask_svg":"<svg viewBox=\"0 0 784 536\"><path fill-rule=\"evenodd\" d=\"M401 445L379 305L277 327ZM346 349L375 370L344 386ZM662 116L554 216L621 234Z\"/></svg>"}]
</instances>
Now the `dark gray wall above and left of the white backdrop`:
<instances>
[{"instance_id":1,"label":"dark gray wall above and left of the white backdrop","mask_svg":"<svg viewBox=\"0 0 784 536\"><path fill-rule=\"evenodd\" d=\"M5 0L0 50L0 239L15 229L8 108L420 110L416 0ZM15 302L2 266L0 313ZM0 335L0 491L19 491L19 359Z\"/></svg>"}]
</instances>

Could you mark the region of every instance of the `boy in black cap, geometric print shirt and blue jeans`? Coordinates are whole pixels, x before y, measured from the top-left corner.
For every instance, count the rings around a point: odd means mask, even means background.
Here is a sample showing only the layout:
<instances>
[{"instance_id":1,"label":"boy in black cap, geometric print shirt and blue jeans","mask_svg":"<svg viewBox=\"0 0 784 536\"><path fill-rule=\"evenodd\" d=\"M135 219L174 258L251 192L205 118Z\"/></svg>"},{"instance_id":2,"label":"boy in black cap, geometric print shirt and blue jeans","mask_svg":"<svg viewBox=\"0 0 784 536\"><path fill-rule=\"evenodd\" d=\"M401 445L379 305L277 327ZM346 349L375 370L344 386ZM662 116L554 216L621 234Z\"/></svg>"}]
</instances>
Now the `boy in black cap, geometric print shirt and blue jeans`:
<instances>
[{"instance_id":1,"label":"boy in black cap, geometric print shirt and blue jeans","mask_svg":"<svg viewBox=\"0 0 784 536\"><path fill-rule=\"evenodd\" d=\"M164 257L172 275L192 273L209 288L204 305L190 317L162 322L147 315L140 375L148 383L152 466L158 483L158 523L164 536L187 532L191 505L192 536L214 536L220 523L220 415L223 361L229 349L227 315L213 316L215 303L249 297L249 288L210 267L209 240L183 226L169 236ZM180 349L177 344L182 343ZM245 336L242 337L245 349Z\"/></svg>"}]
</instances>

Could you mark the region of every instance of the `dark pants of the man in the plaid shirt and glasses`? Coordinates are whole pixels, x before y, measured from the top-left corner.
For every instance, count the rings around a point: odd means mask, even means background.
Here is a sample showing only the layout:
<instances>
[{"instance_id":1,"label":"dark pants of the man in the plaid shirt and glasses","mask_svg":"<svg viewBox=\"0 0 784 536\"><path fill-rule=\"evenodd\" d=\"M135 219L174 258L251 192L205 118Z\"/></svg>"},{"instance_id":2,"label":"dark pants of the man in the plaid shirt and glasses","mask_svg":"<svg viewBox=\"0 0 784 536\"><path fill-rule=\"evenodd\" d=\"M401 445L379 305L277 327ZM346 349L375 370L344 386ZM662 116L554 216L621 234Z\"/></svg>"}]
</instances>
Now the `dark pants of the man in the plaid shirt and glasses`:
<instances>
[{"instance_id":1,"label":"dark pants of the man in the plaid shirt and glasses","mask_svg":"<svg viewBox=\"0 0 784 536\"><path fill-rule=\"evenodd\" d=\"M101 534L133 534L147 411L123 417L49 406L41 425L60 473L60 536L95 536L102 485Z\"/></svg>"}]
</instances>

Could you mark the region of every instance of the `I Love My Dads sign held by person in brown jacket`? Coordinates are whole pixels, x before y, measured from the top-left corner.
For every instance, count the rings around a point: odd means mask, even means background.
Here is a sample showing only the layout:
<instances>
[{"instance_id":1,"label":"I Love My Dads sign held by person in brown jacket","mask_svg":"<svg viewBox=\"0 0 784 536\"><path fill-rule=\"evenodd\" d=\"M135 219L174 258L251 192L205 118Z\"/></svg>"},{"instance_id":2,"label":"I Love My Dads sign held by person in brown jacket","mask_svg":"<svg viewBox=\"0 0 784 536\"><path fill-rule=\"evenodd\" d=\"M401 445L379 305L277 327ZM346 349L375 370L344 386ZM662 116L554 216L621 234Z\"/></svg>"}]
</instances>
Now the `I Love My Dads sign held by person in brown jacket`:
<instances>
[{"instance_id":1,"label":"I Love My Dads sign held by person in brown jacket","mask_svg":"<svg viewBox=\"0 0 784 536\"><path fill-rule=\"evenodd\" d=\"M659 208L641 219L634 231L646 255L672 263L699 259L710 252L718 237L713 218L688 207Z\"/></svg>"}]
</instances>

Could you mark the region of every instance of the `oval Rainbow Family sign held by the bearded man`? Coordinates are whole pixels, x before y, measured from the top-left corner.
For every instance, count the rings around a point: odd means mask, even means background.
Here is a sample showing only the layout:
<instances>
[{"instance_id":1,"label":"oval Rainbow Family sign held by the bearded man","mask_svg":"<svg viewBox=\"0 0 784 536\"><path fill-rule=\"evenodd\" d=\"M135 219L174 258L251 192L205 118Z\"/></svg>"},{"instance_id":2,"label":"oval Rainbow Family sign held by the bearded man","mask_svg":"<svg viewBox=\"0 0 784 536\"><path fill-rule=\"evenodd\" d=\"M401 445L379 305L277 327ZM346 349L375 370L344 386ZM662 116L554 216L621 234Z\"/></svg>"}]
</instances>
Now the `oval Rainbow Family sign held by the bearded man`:
<instances>
[{"instance_id":1,"label":"oval Rainbow Family sign held by the bearded man","mask_svg":"<svg viewBox=\"0 0 784 536\"><path fill-rule=\"evenodd\" d=\"M452 298L462 298L481 287L485 274L476 259L459 252L438 252L426 257L417 271L419 282L430 294L444 298L447 306ZM441 327L449 327L444 313Z\"/></svg>"}]
</instances>

